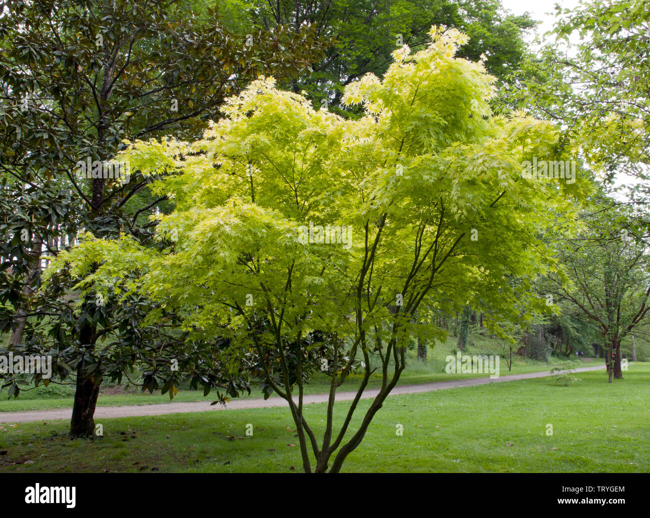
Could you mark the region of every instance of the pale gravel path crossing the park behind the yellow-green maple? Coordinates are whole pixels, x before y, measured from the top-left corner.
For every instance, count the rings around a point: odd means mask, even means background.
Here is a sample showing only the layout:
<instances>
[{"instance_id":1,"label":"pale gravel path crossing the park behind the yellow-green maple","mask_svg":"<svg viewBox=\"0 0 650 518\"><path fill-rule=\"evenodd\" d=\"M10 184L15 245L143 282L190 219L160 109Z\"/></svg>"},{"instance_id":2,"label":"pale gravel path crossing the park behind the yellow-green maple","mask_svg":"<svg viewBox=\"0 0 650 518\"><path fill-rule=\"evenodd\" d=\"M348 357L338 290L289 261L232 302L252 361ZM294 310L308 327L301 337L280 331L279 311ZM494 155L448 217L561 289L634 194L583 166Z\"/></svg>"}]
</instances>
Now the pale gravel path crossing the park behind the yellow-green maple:
<instances>
[{"instance_id":1,"label":"pale gravel path crossing the park behind the yellow-green maple","mask_svg":"<svg viewBox=\"0 0 650 518\"><path fill-rule=\"evenodd\" d=\"M597 371L604 369L605 365L594 367L578 367L577 372ZM433 383L422 383L417 385L397 386L391 391L391 396L400 394L415 394L420 392L432 392L456 387L469 387L474 385L485 385L488 383L499 383L504 381L527 380L530 378L544 378L551 376L550 371L538 373L514 374L499 376L499 378L467 378L464 380L439 381ZM379 389L366 389L363 391L362 399L375 397ZM337 392L337 401L350 401L356 396L356 391ZM324 403L328 401L328 394L309 394L303 398L304 404ZM272 397L266 401L259 399L235 399L223 405L211 405L209 402L177 402L177 403L159 403L143 404L131 406L98 406L95 410L95 419L106 417L136 417L141 415L163 415L166 413L187 413L187 412L207 412L209 410L237 410L240 408L270 408L272 406L287 406L289 403L281 397ZM72 417L72 408L59 410L34 410L31 412L0 412L0 423L29 423L30 421L54 421L55 419L68 419Z\"/></svg>"}]
</instances>

